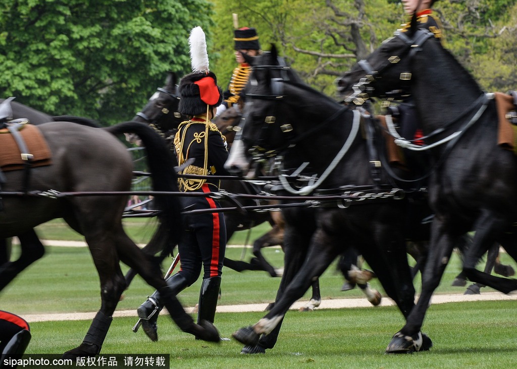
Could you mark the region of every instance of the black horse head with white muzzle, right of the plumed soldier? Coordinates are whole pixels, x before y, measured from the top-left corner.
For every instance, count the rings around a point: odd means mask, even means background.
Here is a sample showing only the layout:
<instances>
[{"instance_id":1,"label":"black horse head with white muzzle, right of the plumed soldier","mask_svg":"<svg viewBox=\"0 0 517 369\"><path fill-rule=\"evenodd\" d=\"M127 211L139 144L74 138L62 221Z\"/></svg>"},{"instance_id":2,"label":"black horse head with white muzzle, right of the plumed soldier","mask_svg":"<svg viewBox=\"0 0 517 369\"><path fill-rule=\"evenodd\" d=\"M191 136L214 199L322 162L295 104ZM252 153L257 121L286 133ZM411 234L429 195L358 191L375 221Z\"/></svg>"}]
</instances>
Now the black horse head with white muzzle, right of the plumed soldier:
<instances>
[{"instance_id":1,"label":"black horse head with white muzzle, right of the plumed soldier","mask_svg":"<svg viewBox=\"0 0 517 369\"><path fill-rule=\"evenodd\" d=\"M265 164L285 145L285 134L292 131L287 111L278 102L284 98L283 83L301 81L278 57L273 45L271 51L253 58L252 72L245 88L246 104L241 130L235 136L226 168L235 174L254 177L258 164ZM285 124L284 124L285 123Z\"/></svg>"}]
</instances>

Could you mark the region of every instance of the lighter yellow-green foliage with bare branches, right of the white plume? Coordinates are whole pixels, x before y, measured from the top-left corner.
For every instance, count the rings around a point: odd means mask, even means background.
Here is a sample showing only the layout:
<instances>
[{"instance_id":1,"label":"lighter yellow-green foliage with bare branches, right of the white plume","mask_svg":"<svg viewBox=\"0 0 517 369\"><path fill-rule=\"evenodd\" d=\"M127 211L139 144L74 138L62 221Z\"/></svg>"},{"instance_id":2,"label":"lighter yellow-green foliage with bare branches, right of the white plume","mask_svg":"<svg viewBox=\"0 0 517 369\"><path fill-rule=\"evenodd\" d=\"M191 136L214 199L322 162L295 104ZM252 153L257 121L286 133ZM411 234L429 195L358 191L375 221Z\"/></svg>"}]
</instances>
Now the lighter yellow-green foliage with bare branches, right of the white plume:
<instances>
[{"instance_id":1,"label":"lighter yellow-green foliage with bare branches, right of the white plume","mask_svg":"<svg viewBox=\"0 0 517 369\"><path fill-rule=\"evenodd\" d=\"M268 48L268 43L275 43L307 83L328 94L335 91L332 81L336 76L366 57L408 20L397 0L318 0L310 3L215 0L215 3L219 37L214 50L221 55L217 68L224 78L229 79L235 67L231 13L238 13L240 26L257 28L263 49ZM512 41L512 37L515 39L515 20L510 15L515 13L516 3L515 0L442 0L435 3L434 9L444 25L447 47L477 79L486 79L485 64L491 60L491 69L496 72L492 79L500 83L487 82L487 88L509 89L515 80L510 77L511 71L515 74L517 60ZM496 51L498 47L501 50ZM484 59L487 61L483 62Z\"/></svg>"}]
</instances>

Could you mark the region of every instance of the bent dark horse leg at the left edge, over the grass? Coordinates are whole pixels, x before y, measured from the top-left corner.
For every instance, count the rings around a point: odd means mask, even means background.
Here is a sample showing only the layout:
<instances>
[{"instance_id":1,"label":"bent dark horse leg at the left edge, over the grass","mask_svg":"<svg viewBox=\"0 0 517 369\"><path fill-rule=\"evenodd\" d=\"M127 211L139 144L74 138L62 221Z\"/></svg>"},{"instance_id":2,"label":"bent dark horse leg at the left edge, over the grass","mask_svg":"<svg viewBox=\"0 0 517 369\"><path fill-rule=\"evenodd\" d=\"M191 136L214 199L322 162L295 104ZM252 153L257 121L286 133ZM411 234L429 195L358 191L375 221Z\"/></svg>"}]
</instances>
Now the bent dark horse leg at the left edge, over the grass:
<instances>
[{"instance_id":1,"label":"bent dark horse leg at the left edge, over the grass","mask_svg":"<svg viewBox=\"0 0 517 369\"><path fill-rule=\"evenodd\" d=\"M23 269L40 259L44 253L45 248L38 238L38 235L31 229L18 236L20 239L20 247L22 253L18 260L7 261L0 265L0 291L4 289ZM3 247L7 247L4 239Z\"/></svg>"}]
</instances>

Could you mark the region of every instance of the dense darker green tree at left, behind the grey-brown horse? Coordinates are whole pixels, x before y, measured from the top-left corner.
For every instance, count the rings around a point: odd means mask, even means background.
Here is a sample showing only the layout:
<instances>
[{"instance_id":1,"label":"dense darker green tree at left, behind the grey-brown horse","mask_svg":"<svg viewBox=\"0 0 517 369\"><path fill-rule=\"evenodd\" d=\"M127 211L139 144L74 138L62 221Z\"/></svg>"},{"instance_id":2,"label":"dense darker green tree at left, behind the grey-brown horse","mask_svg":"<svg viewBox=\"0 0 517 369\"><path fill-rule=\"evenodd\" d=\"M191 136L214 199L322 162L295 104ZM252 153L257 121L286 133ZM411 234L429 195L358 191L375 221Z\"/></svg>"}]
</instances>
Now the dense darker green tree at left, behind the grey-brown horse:
<instances>
[{"instance_id":1,"label":"dense darker green tree at left, behind the grey-brown horse","mask_svg":"<svg viewBox=\"0 0 517 369\"><path fill-rule=\"evenodd\" d=\"M211 6L206 0L3 0L0 96L53 115L130 119L167 71L190 71L189 32L200 25L209 33Z\"/></svg>"}]
</instances>

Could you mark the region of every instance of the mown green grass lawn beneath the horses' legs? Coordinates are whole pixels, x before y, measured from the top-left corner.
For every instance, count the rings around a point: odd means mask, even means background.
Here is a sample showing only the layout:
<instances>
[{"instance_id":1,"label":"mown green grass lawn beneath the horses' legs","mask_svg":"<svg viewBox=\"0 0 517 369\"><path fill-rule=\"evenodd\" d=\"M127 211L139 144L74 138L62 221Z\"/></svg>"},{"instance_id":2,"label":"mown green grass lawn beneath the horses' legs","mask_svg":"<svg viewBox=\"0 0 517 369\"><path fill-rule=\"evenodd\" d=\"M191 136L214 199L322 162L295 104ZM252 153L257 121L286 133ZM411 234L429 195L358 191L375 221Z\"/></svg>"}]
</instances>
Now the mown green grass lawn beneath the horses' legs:
<instances>
[{"instance_id":1,"label":"mown green grass lawn beneath the horses' legs","mask_svg":"<svg viewBox=\"0 0 517 369\"><path fill-rule=\"evenodd\" d=\"M62 221L61 221L62 222ZM130 219L128 233L141 236L146 242L150 226L147 220ZM59 221L45 223L38 232L42 238L69 239L66 227ZM255 228L262 234L267 227ZM148 232L148 233L147 233ZM240 232L242 240L246 231ZM73 233L72 233L73 234ZM82 237L75 234L75 238ZM255 237L252 235L250 239ZM241 241L243 242L243 241ZM239 241L236 244L241 243ZM19 252L13 246L13 253ZM240 259L242 248L228 248L226 256ZM264 249L266 259L280 267L283 253ZM249 260L248 249L245 259ZM515 265L503 254L503 262ZM163 264L167 269L170 259ZM464 288L450 283L460 269L460 260L453 255L437 293L459 293ZM123 266L123 271L127 267ZM419 291L420 276L415 280ZM275 299L279 278L265 272L243 273L225 268L222 298L219 304L268 303ZM360 297L360 291L341 292L343 277L332 265L321 278L324 299ZM201 279L180 295L186 307L192 307L199 296ZM376 280L372 285L383 292ZM483 288L484 291L493 291ZM135 310L153 292L136 277L119 302L117 310ZM303 299L309 299L307 293ZM47 248L47 254L23 272L2 291L0 309L20 315L36 313L71 313L97 311L100 307L99 281L92 258L85 247ZM230 336L240 327L255 323L264 315L253 313L218 313L216 325L223 336ZM171 367L196 368L510 368L517 367L517 310L514 301L446 303L431 306L423 330L434 342L430 352L415 355L385 355L391 336L404 324L396 307L356 309L318 309L310 313L290 311L282 326L279 341L266 355L240 355L236 341L219 345L194 341L172 324L169 317L159 321L157 343L150 342L142 331L131 331L136 318L113 320L102 349L103 354L170 354ZM27 354L61 354L78 346L89 327L89 320L31 323L33 340Z\"/></svg>"}]
</instances>

